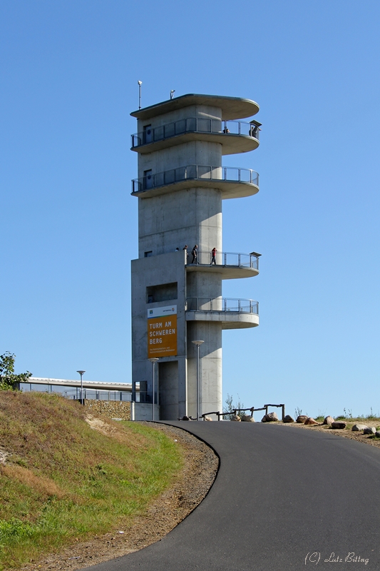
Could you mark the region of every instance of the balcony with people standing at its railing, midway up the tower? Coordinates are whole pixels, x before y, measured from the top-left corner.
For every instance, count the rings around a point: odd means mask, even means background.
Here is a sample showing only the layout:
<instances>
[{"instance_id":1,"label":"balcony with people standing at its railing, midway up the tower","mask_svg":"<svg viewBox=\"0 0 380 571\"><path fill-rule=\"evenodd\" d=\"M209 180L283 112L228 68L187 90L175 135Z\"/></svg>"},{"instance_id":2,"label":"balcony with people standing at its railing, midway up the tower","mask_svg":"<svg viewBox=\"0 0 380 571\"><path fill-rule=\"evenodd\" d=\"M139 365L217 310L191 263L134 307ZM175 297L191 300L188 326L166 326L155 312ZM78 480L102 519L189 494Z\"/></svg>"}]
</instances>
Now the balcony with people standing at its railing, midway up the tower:
<instances>
[{"instance_id":1,"label":"balcony with people standing at its railing, midway up the tower","mask_svg":"<svg viewBox=\"0 0 380 571\"><path fill-rule=\"evenodd\" d=\"M217 252L215 262L211 252L197 252L197 263L192 262L192 253L188 250L186 271L188 272L217 272L222 280L252 278L259 273L258 253Z\"/></svg>"}]
</instances>

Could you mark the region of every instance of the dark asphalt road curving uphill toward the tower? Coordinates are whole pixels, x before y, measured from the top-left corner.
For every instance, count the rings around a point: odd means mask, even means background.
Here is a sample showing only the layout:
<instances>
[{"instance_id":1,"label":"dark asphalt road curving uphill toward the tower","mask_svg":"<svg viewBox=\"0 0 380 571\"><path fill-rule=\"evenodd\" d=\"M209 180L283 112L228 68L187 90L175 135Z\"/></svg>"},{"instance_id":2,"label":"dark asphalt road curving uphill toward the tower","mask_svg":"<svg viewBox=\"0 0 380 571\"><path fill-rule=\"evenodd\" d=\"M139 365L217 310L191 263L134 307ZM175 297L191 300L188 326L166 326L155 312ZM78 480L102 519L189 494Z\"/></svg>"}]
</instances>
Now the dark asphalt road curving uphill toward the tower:
<instances>
[{"instance_id":1,"label":"dark asphalt road curving uphill toward the tower","mask_svg":"<svg viewBox=\"0 0 380 571\"><path fill-rule=\"evenodd\" d=\"M168 424L214 448L214 485L163 540L91 571L380 570L379 448L271 424Z\"/></svg>"}]
</instances>

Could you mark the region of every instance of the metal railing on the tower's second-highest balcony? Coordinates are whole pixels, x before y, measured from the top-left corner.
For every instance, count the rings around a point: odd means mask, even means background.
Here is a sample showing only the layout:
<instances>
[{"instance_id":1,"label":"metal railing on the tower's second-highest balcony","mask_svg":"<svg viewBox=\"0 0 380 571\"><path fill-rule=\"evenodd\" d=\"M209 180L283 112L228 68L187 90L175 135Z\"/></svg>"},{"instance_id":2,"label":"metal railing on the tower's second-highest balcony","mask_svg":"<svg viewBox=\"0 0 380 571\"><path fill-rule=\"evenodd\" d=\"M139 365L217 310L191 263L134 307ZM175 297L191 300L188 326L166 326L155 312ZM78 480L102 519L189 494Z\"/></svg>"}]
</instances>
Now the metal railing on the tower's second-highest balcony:
<instances>
[{"instance_id":1,"label":"metal railing on the tower's second-highest balcony","mask_svg":"<svg viewBox=\"0 0 380 571\"><path fill-rule=\"evenodd\" d=\"M235 166L202 166L189 165L172 168L162 173L148 173L142 178L132 181L132 193L148 191L168 184L181 181L225 181L233 183L248 183L259 186L259 173L251 168L238 168Z\"/></svg>"}]
</instances>

